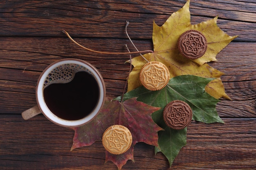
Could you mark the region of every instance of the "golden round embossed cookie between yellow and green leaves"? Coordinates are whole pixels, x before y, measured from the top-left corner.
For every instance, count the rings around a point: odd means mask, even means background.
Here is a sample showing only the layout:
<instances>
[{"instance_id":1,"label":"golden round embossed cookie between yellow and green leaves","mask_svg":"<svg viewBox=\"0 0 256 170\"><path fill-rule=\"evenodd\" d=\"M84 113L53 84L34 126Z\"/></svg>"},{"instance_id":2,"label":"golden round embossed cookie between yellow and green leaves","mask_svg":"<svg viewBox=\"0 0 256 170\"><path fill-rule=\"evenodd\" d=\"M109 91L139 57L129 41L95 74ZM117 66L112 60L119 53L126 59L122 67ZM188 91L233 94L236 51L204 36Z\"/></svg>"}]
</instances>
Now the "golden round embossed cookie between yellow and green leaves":
<instances>
[{"instance_id":1,"label":"golden round embossed cookie between yellow and green leaves","mask_svg":"<svg viewBox=\"0 0 256 170\"><path fill-rule=\"evenodd\" d=\"M139 73L141 84L150 91L158 91L164 88L169 80L168 68L161 62L153 61L145 64Z\"/></svg>"}]
</instances>

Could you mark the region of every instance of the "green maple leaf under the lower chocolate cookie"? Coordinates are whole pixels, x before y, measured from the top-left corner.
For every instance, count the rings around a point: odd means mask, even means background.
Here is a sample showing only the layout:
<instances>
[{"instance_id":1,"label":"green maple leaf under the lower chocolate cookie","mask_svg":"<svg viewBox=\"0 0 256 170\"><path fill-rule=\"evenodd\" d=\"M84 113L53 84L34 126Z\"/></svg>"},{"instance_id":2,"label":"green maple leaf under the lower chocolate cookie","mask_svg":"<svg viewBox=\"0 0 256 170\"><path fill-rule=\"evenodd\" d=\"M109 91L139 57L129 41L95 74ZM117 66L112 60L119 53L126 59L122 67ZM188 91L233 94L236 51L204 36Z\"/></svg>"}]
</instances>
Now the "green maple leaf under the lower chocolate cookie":
<instances>
[{"instance_id":1,"label":"green maple leaf under the lower chocolate cookie","mask_svg":"<svg viewBox=\"0 0 256 170\"><path fill-rule=\"evenodd\" d=\"M138 101L162 108L152 114L153 120L165 129L158 132L159 147L156 147L155 151L162 152L170 165L180 149L186 145L186 128L174 130L166 126L162 116L164 107L173 100L182 100L191 107L193 120L204 123L224 123L216 111L216 104L219 100L206 93L204 89L212 80L213 78L181 75L173 77L167 86L160 91L149 91L141 86L124 95L124 100L138 97Z\"/></svg>"}]
</instances>

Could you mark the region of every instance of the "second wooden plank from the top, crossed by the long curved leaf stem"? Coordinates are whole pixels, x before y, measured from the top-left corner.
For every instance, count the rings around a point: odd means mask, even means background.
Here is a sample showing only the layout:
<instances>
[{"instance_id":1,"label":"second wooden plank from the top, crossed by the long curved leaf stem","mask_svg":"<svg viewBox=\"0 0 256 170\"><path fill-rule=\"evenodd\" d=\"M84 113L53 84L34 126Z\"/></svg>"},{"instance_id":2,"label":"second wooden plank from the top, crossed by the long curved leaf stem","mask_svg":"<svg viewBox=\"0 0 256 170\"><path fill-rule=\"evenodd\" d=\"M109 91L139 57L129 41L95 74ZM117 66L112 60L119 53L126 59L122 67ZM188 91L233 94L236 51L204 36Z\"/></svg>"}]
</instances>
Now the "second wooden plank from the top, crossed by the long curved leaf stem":
<instances>
[{"instance_id":1,"label":"second wooden plank from the top, crossed by the long curved leaf stem","mask_svg":"<svg viewBox=\"0 0 256 170\"><path fill-rule=\"evenodd\" d=\"M90 49L108 52L126 52L124 44L135 51L128 40L122 39L81 39L80 44ZM139 50L151 50L151 40L133 40ZM255 79L256 43L231 42L218 55L216 62L209 64L225 75L223 82L240 82ZM68 38L2 38L2 68L15 68L23 71L43 71L49 64L62 58L79 58L94 64L99 70L128 71L128 55L103 55L86 51L71 42ZM135 57L137 55L132 55ZM236 69L234 69L236 68Z\"/></svg>"}]
</instances>

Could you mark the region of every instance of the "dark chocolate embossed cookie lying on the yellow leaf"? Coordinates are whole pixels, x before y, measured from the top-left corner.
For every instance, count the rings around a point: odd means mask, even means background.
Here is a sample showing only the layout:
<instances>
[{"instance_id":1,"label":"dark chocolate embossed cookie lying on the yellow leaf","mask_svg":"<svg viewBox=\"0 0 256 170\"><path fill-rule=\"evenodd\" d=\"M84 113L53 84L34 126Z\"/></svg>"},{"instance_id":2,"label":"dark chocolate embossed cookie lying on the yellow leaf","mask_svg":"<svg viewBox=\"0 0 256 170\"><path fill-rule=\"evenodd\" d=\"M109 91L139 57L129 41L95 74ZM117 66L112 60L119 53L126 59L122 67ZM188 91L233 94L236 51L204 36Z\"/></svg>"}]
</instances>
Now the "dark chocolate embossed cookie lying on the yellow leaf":
<instances>
[{"instance_id":1,"label":"dark chocolate embossed cookie lying on the yellow leaf","mask_svg":"<svg viewBox=\"0 0 256 170\"><path fill-rule=\"evenodd\" d=\"M178 49L184 57L197 59L206 52L207 40L200 31L189 30L180 35Z\"/></svg>"}]
</instances>

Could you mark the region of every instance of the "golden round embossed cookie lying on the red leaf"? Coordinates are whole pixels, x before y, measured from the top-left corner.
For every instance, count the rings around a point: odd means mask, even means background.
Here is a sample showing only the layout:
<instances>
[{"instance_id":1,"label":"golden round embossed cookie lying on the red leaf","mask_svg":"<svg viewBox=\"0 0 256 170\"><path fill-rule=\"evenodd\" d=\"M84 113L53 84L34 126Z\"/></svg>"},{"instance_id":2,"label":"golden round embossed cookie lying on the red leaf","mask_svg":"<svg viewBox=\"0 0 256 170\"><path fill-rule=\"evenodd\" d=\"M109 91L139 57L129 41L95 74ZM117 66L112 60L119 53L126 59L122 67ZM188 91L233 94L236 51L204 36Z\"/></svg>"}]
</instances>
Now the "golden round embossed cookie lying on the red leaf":
<instances>
[{"instance_id":1,"label":"golden round embossed cookie lying on the red leaf","mask_svg":"<svg viewBox=\"0 0 256 170\"><path fill-rule=\"evenodd\" d=\"M132 145L132 134L125 126L112 125L103 133L102 144L111 154L120 155Z\"/></svg>"}]
</instances>

